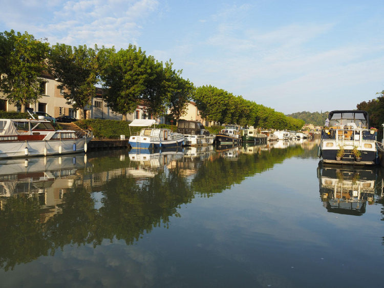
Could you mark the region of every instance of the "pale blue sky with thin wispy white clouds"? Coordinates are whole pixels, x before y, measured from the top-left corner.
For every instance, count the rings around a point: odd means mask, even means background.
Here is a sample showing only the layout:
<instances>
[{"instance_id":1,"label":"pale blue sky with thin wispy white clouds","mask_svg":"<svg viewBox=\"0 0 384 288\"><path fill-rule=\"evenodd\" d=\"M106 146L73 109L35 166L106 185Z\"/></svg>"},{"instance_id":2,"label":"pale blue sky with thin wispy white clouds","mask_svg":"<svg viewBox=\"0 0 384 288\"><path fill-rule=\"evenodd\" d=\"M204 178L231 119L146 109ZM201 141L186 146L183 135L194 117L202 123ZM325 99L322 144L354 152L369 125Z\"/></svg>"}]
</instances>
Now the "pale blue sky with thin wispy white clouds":
<instances>
[{"instance_id":1,"label":"pale blue sky with thin wispy white clouds","mask_svg":"<svg viewBox=\"0 0 384 288\"><path fill-rule=\"evenodd\" d=\"M355 109L384 90L382 0L0 0L0 32L51 45L126 49L172 60L276 111Z\"/></svg>"}]
</instances>

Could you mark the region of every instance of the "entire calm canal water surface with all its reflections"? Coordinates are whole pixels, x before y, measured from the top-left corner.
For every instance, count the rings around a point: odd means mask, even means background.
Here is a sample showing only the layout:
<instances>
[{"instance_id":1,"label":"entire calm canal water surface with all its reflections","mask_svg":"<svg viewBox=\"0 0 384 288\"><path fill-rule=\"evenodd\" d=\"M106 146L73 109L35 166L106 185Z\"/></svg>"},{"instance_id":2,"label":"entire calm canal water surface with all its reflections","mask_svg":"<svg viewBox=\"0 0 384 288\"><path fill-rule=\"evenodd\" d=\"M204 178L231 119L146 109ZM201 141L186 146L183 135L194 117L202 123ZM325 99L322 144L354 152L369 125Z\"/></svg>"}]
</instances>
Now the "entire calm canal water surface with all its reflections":
<instances>
[{"instance_id":1,"label":"entire calm canal water surface with all its reflections","mask_svg":"<svg viewBox=\"0 0 384 288\"><path fill-rule=\"evenodd\" d=\"M0 162L2 286L383 285L383 171L317 143Z\"/></svg>"}]
</instances>

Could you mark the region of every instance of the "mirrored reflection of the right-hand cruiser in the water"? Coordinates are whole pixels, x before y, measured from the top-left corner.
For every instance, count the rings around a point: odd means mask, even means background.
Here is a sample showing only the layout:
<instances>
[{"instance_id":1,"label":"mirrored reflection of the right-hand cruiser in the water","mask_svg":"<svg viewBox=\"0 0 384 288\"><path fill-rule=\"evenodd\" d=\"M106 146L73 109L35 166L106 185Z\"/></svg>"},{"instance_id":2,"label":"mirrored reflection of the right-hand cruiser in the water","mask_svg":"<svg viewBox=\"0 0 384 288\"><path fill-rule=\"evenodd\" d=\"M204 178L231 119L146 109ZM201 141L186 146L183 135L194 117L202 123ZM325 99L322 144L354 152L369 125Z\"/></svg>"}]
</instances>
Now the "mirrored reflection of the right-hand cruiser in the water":
<instances>
[{"instance_id":1,"label":"mirrored reflection of the right-hand cruiser in the water","mask_svg":"<svg viewBox=\"0 0 384 288\"><path fill-rule=\"evenodd\" d=\"M358 215L374 203L377 168L330 166L319 163L320 196L328 212Z\"/></svg>"}]
</instances>

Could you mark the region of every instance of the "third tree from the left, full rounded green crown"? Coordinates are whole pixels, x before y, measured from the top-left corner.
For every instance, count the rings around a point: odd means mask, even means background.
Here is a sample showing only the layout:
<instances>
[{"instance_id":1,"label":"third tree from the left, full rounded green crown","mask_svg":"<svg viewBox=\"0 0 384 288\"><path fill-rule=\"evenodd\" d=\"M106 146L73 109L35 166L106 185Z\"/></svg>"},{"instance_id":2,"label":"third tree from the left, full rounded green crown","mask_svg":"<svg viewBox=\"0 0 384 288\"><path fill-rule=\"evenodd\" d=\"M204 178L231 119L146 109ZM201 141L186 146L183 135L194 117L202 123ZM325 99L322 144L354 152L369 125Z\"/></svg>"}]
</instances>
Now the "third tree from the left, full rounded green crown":
<instances>
[{"instance_id":1,"label":"third tree from the left, full rounded green crown","mask_svg":"<svg viewBox=\"0 0 384 288\"><path fill-rule=\"evenodd\" d=\"M151 65L145 51L129 45L117 53L110 51L103 65L101 79L106 89L106 103L114 112L123 115L133 113L139 105L145 84L150 77Z\"/></svg>"}]
</instances>

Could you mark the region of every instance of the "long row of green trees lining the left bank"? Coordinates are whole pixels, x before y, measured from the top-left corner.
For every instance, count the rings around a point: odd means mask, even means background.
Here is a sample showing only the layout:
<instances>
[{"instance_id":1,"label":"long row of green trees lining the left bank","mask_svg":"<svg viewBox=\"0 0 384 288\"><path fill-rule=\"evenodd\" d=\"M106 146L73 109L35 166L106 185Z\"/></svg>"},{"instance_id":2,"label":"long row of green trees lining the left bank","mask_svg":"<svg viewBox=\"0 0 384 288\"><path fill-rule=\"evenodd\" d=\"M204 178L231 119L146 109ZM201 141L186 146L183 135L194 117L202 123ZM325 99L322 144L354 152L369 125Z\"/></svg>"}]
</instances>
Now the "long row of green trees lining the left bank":
<instances>
[{"instance_id":1,"label":"long row of green trees lining the left bank","mask_svg":"<svg viewBox=\"0 0 384 288\"><path fill-rule=\"evenodd\" d=\"M116 51L114 48L71 47L47 39L36 39L25 32L0 33L0 89L10 103L21 105L40 96L40 78L49 73L61 84L67 103L83 109L102 85L106 104L116 113L133 113L143 102L148 115L158 117L170 109L178 120L190 100L197 103L201 116L208 121L237 123L274 129L300 129L304 121L286 117L241 96L233 96L213 86L196 88L182 71L172 68L171 60L163 63L147 56L136 46ZM84 118L86 116L84 110Z\"/></svg>"}]
</instances>

